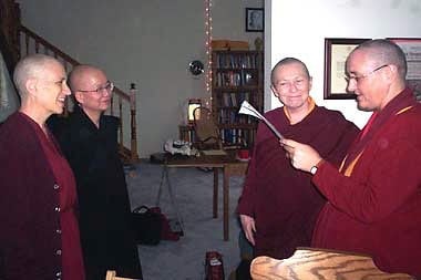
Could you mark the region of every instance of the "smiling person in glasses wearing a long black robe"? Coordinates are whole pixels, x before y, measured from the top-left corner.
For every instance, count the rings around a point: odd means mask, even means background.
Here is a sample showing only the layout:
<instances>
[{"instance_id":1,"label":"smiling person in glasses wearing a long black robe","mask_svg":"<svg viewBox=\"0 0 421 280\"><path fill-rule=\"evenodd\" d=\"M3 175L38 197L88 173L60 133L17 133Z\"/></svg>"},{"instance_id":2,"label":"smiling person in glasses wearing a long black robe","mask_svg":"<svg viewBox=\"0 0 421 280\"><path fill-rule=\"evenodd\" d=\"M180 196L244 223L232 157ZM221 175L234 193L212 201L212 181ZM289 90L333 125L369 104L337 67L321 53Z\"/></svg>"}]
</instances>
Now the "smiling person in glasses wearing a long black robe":
<instances>
[{"instance_id":1,"label":"smiling person in glasses wearing a long black robe","mask_svg":"<svg viewBox=\"0 0 421 280\"><path fill-rule=\"evenodd\" d=\"M91 65L75 66L69 85L76 105L54 131L76 178L86 278L103 280L106 270L116 270L119 276L141 279L117 152L119 120L104 115L114 85L102 70Z\"/></svg>"}]
</instances>

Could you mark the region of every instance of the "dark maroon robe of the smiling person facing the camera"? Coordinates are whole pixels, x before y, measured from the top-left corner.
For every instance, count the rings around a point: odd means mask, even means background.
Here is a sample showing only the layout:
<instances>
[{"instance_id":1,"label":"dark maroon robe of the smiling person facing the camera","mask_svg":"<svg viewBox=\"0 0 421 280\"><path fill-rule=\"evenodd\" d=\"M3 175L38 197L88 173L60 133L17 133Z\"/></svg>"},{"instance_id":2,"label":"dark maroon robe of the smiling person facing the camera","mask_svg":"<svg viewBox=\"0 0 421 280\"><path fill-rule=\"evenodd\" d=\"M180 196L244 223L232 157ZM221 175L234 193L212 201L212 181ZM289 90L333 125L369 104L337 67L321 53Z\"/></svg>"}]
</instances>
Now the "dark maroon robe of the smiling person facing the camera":
<instances>
[{"instance_id":1,"label":"dark maroon robe of the smiling person facing the camera","mask_svg":"<svg viewBox=\"0 0 421 280\"><path fill-rule=\"evenodd\" d=\"M336 111L316 106L290 125L284 110L266 117L287 138L315 147L322 157L340 163L358 128ZM310 246L317 215L325 203L311 175L295 169L276 136L259 124L238 212L255 218L255 255L290 257L296 247Z\"/></svg>"}]
</instances>

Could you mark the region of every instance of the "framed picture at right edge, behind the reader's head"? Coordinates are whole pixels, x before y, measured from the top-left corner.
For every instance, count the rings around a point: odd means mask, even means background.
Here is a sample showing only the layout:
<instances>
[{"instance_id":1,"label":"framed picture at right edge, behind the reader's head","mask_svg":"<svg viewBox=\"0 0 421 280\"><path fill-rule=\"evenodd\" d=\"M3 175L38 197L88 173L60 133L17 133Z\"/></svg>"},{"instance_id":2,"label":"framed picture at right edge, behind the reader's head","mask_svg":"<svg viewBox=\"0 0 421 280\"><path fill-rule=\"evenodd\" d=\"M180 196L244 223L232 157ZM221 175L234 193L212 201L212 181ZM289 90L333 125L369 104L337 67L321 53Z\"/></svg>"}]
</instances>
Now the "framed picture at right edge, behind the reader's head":
<instances>
[{"instance_id":1,"label":"framed picture at right edge, behind the reader's head","mask_svg":"<svg viewBox=\"0 0 421 280\"><path fill-rule=\"evenodd\" d=\"M407 56L407 83L421 101L421 38L388 38L398 44Z\"/></svg>"}]
</instances>

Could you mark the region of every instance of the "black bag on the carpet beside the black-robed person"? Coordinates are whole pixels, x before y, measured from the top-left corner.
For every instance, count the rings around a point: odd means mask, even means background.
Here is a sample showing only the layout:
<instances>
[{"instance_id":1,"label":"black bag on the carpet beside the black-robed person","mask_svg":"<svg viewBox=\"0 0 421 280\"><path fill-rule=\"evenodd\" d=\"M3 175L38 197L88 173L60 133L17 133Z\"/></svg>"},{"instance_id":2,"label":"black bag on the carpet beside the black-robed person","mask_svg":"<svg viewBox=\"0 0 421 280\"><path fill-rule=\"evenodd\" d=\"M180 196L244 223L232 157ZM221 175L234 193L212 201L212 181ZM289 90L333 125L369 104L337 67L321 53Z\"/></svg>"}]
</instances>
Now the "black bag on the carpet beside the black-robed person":
<instances>
[{"instance_id":1,"label":"black bag on the carpet beside the black-robed person","mask_svg":"<svg viewBox=\"0 0 421 280\"><path fill-rule=\"evenodd\" d=\"M132 211L132 227L137 243L157 245L161 241L162 219L158 212L146 206L136 207Z\"/></svg>"}]
</instances>

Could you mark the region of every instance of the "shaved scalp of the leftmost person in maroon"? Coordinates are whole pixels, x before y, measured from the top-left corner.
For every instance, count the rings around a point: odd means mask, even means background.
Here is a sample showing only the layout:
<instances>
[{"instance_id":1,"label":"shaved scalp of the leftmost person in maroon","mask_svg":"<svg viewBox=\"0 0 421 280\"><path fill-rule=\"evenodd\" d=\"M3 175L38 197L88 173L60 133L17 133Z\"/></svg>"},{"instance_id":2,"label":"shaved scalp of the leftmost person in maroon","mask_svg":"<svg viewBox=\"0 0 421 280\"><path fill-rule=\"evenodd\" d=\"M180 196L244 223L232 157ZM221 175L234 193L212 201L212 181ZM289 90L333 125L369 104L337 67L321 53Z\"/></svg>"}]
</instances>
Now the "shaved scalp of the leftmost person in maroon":
<instances>
[{"instance_id":1,"label":"shaved scalp of the leftmost person in maroon","mask_svg":"<svg viewBox=\"0 0 421 280\"><path fill-rule=\"evenodd\" d=\"M13 82L22 98L28 95L25 86L28 80L44 79L52 64L61 65L58 60L45 54L30 54L18 62L13 72Z\"/></svg>"}]
</instances>

